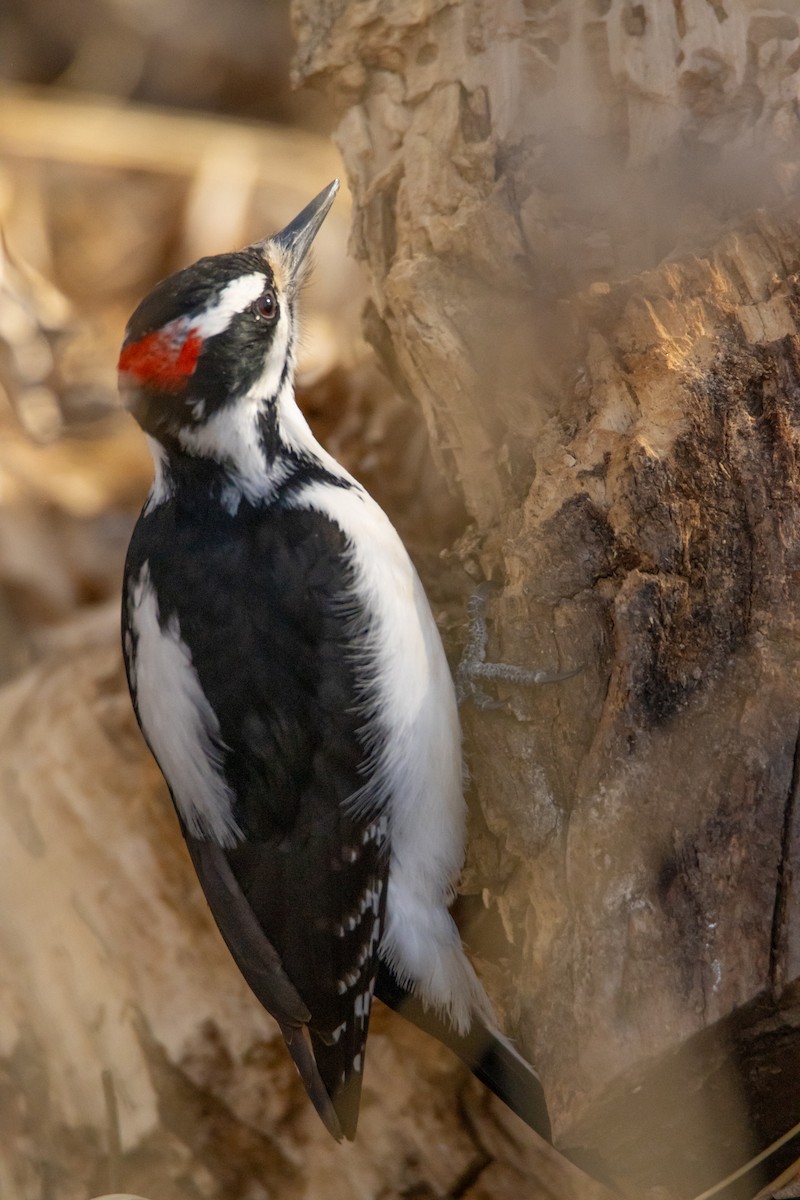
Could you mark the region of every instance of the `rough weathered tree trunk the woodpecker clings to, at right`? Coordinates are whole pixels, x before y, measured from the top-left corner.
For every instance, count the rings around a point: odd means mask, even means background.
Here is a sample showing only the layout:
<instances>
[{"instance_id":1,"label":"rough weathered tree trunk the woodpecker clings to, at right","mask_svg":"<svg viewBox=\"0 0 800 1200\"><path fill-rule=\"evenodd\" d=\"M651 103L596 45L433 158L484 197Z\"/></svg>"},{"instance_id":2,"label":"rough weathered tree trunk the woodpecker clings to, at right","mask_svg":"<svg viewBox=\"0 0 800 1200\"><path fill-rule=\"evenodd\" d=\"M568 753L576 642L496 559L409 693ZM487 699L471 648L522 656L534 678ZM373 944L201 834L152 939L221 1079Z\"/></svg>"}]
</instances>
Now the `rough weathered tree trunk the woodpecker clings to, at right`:
<instances>
[{"instance_id":1,"label":"rough weathered tree trunk the woodpecker clings to, at right","mask_svg":"<svg viewBox=\"0 0 800 1200\"><path fill-rule=\"evenodd\" d=\"M465 714L473 937L564 1144L691 1194L800 1108L796 6L294 12L492 656L578 668Z\"/></svg>"}]
</instances>

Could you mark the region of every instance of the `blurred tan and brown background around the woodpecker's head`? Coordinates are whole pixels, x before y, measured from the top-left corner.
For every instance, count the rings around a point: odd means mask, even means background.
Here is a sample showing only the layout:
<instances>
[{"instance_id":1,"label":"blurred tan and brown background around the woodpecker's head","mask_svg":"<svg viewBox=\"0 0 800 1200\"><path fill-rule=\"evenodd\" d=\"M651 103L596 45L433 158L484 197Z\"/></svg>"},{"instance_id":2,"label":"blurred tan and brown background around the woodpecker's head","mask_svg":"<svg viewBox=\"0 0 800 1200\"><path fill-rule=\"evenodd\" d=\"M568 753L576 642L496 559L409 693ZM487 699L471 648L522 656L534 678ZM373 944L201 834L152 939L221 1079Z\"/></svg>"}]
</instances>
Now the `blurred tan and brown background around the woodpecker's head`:
<instances>
[{"instance_id":1,"label":"blurred tan and brown background around the woodpecker's head","mask_svg":"<svg viewBox=\"0 0 800 1200\"><path fill-rule=\"evenodd\" d=\"M342 173L332 115L293 91L290 58L288 0L1 7L0 679L119 589L151 470L116 401L138 300L282 228ZM360 337L348 229L344 187L315 246L300 396L332 452L404 510L432 486L426 438ZM422 556L431 533L417 523Z\"/></svg>"}]
</instances>

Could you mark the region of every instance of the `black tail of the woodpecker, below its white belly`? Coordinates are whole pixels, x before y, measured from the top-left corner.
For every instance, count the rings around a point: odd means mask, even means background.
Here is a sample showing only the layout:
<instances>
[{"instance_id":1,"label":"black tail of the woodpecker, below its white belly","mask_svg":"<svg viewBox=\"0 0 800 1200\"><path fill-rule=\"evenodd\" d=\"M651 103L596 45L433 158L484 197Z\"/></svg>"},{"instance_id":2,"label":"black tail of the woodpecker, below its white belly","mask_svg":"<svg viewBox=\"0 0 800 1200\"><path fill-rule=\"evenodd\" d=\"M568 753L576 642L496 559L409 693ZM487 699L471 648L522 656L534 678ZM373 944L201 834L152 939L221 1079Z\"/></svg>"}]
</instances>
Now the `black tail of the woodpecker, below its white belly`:
<instances>
[{"instance_id":1,"label":"black tail of the woodpecker, below its white belly","mask_svg":"<svg viewBox=\"0 0 800 1200\"><path fill-rule=\"evenodd\" d=\"M463 1063L498 1099L543 1138L552 1141L551 1118L542 1081L511 1043L477 1019L463 1037L455 1033L432 1009L403 988L385 962L378 967L375 996L413 1025L457 1054Z\"/></svg>"}]
</instances>

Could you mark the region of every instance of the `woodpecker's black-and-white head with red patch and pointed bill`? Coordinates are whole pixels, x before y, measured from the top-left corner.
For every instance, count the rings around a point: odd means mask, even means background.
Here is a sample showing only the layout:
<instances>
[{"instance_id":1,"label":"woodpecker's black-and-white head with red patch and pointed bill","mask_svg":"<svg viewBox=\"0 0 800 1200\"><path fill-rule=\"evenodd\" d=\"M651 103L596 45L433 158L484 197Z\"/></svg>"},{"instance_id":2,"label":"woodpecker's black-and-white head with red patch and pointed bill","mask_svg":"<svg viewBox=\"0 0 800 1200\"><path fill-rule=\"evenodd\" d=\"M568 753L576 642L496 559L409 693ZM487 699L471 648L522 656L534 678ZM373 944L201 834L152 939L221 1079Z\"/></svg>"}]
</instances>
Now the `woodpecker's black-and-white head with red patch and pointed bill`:
<instances>
[{"instance_id":1,"label":"woodpecker's black-and-white head with red patch and pointed bill","mask_svg":"<svg viewBox=\"0 0 800 1200\"><path fill-rule=\"evenodd\" d=\"M157 283L120 353L122 402L151 437L187 448L245 397L269 402L294 366L295 301L333 180L285 229Z\"/></svg>"}]
</instances>

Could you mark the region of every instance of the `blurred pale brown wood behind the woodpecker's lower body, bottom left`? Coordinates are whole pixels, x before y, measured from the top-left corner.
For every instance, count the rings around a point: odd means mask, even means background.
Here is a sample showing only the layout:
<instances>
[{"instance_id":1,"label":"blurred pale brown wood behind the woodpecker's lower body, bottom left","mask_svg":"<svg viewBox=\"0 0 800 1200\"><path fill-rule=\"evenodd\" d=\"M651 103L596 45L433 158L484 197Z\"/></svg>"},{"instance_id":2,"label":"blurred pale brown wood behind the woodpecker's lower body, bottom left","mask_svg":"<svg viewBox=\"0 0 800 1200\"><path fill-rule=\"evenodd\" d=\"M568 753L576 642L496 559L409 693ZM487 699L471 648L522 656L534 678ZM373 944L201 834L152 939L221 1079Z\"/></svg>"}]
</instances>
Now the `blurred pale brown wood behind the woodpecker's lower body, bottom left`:
<instances>
[{"instance_id":1,"label":"blurred pale brown wood behind the woodpecker's lower body, bottom left","mask_svg":"<svg viewBox=\"0 0 800 1200\"><path fill-rule=\"evenodd\" d=\"M201 899L116 605L2 690L0 760L4 1200L517 1200L534 1174L545 1196L602 1200L385 1010L359 1140L330 1139Z\"/></svg>"}]
</instances>

